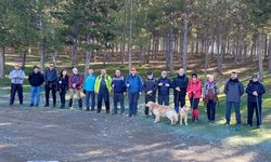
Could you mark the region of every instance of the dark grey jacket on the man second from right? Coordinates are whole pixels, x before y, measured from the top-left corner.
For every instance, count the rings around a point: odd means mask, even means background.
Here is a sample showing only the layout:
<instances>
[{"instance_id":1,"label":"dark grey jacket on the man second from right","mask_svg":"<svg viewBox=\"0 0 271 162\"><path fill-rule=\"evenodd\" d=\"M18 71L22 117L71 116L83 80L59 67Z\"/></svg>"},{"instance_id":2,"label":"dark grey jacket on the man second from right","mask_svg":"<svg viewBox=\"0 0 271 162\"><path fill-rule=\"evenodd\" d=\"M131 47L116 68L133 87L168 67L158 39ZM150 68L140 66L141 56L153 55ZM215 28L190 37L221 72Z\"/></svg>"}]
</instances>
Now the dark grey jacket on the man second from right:
<instances>
[{"instance_id":1,"label":"dark grey jacket on the man second from right","mask_svg":"<svg viewBox=\"0 0 271 162\"><path fill-rule=\"evenodd\" d=\"M224 85L224 94L227 102L241 102L241 96L244 94L244 85L238 79L230 79Z\"/></svg>"}]
</instances>

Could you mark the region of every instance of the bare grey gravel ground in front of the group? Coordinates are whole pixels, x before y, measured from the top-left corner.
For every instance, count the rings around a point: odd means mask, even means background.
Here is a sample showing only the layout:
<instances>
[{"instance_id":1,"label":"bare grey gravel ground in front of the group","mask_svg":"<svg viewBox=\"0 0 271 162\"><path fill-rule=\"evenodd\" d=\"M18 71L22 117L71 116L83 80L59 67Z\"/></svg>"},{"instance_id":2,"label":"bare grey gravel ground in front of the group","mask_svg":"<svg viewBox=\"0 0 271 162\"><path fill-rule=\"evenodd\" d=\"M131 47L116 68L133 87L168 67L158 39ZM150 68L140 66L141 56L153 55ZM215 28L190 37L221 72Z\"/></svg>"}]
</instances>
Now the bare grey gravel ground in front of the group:
<instances>
[{"instance_id":1,"label":"bare grey gravel ground in front of the group","mask_svg":"<svg viewBox=\"0 0 271 162\"><path fill-rule=\"evenodd\" d=\"M152 119L60 109L0 108L0 162L269 161L256 148L214 144Z\"/></svg>"}]
</instances>

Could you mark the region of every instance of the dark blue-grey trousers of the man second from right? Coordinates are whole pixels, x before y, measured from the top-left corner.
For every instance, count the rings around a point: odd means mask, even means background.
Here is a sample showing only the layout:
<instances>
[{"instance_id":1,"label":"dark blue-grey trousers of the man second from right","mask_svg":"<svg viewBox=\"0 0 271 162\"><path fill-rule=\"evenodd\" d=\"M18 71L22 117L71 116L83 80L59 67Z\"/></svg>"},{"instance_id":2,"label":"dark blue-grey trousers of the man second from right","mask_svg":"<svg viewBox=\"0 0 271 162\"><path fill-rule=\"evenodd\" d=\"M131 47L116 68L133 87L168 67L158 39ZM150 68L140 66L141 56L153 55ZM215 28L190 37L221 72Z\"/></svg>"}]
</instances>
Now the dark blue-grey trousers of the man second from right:
<instances>
[{"instance_id":1,"label":"dark blue-grey trousers of the man second from right","mask_svg":"<svg viewBox=\"0 0 271 162\"><path fill-rule=\"evenodd\" d=\"M228 124L231 122L231 110L232 106L234 107L235 110L235 117L236 117L236 123L241 124L241 113L240 113L240 102L227 102L225 104L225 121Z\"/></svg>"}]
</instances>

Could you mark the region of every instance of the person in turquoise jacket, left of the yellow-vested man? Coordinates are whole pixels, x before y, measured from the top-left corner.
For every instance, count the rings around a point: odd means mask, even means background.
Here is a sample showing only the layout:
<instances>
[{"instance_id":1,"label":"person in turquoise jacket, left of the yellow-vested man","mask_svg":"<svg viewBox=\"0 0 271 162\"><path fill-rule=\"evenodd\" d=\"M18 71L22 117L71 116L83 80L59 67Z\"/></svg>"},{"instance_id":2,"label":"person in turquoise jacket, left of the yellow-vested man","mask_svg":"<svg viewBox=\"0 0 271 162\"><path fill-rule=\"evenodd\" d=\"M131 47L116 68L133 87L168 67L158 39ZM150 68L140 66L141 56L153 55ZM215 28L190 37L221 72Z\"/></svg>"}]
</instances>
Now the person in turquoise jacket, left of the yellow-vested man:
<instances>
[{"instance_id":1,"label":"person in turquoise jacket, left of the yellow-vested man","mask_svg":"<svg viewBox=\"0 0 271 162\"><path fill-rule=\"evenodd\" d=\"M85 79L85 92L86 92L86 110L89 111L89 108L91 106L91 111L94 111L95 108L95 92L94 92L94 85L95 85L96 77L94 76L93 69L88 70L88 75ZM91 105L90 105L91 99Z\"/></svg>"}]
</instances>

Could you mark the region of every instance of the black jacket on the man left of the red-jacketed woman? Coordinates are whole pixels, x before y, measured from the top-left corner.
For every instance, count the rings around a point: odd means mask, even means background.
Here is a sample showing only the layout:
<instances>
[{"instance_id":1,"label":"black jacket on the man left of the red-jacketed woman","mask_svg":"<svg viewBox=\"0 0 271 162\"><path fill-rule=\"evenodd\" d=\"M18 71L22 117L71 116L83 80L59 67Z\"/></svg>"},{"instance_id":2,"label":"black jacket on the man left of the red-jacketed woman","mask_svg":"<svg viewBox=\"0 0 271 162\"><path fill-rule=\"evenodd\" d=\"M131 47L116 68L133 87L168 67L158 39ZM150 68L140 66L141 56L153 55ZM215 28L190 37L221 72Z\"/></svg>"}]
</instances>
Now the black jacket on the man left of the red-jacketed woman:
<instances>
[{"instance_id":1,"label":"black jacket on the man left of the red-jacketed woman","mask_svg":"<svg viewBox=\"0 0 271 162\"><path fill-rule=\"evenodd\" d=\"M189 79L186 75L176 77L172 81L172 89L175 90L175 95L178 94L178 91L176 91L176 87L180 87L181 89L180 95L185 96L188 85L189 85Z\"/></svg>"}]
</instances>

